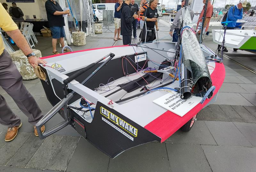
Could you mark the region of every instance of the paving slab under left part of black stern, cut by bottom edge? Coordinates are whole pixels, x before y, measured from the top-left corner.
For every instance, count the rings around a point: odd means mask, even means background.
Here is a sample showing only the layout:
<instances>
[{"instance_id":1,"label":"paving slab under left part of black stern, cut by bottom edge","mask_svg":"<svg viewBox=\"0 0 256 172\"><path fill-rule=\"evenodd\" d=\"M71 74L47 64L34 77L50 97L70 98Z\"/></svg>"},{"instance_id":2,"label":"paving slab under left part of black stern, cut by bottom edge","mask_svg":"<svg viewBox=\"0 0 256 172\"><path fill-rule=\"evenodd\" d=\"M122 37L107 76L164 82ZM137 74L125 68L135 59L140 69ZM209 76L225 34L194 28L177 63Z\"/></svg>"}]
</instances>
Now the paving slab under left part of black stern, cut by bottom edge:
<instances>
[{"instance_id":1,"label":"paving slab under left part of black stern, cut by bottom edge","mask_svg":"<svg viewBox=\"0 0 256 172\"><path fill-rule=\"evenodd\" d=\"M87 140L81 137L76 146L75 152L69 161L67 171L107 171L108 162L108 155L104 154Z\"/></svg>"}]
</instances>

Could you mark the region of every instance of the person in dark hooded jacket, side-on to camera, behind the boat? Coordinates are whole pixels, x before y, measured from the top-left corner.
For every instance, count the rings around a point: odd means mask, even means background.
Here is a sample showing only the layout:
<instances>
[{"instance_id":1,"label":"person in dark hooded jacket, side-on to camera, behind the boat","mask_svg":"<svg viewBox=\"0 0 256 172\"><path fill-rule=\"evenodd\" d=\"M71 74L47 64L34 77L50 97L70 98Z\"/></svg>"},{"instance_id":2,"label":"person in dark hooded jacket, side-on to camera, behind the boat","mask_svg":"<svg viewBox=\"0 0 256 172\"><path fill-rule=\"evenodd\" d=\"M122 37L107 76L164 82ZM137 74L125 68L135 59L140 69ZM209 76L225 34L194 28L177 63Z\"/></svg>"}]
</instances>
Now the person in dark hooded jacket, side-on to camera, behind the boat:
<instances>
[{"instance_id":1,"label":"person in dark hooded jacket, side-on to camera, behind the boat","mask_svg":"<svg viewBox=\"0 0 256 172\"><path fill-rule=\"evenodd\" d=\"M132 43L132 21L138 18L137 14L132 16L131 0L125 0L121 7L121 35L123 35L123 44Z\"/></svg>"}]
</instances>

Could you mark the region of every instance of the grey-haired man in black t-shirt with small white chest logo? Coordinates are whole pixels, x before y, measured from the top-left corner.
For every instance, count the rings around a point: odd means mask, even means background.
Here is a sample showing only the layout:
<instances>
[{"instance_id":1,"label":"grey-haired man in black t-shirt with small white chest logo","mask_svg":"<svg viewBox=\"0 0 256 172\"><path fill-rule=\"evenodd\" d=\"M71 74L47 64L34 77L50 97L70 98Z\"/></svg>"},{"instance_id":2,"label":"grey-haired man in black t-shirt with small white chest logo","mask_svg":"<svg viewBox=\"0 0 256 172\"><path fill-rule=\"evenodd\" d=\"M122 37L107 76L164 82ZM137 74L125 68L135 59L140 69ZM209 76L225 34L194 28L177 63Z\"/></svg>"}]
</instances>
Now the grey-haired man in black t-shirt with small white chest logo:
<instances>
[{"instance_id":1,"label":"grey-haired man in black t-shirt with small white chest logo","mask_svg":"<svg viewBox=\"0 0 256 172\"><path fill-rule=\"evenodd\" d=\"M158 24L157 24L157 0L150 0L149 1L149 8L144 12L142 20L145 21L142 31L140 32L140 38L141 42L145 42L145 36L146 36L146 25L147 30L151 30L147 32L147 38L146 42L152 42L156 39L156 31L155 31L155 25L156 30L158 31Z\"/></svg>"}]
</instances>

